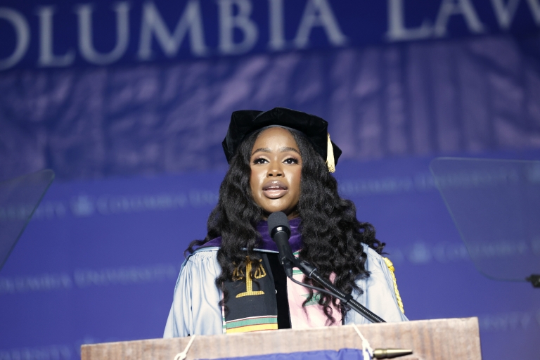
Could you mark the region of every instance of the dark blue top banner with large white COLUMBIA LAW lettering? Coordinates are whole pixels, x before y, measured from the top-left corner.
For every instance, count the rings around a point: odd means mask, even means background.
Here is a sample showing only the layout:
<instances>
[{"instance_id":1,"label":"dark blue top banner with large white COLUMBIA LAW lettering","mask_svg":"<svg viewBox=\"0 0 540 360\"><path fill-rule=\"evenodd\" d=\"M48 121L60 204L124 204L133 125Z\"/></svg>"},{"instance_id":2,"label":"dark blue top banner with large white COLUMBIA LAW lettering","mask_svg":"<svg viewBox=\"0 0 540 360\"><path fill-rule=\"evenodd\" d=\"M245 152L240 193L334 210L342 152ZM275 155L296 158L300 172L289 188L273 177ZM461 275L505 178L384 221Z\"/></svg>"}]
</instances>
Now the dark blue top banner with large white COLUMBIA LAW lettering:
<instances>
[{"instance_id":1,"label":"dark blue top banner with large white COLUMBIA LAW lettering","mask_svg":"<svg viewBox=\"0 0 540 360\"><path fill-rule=\"evenodd\" d=\"M3 0L0 71L529 37L539 28L538 0Z\"/></svg>"}]
</instances>

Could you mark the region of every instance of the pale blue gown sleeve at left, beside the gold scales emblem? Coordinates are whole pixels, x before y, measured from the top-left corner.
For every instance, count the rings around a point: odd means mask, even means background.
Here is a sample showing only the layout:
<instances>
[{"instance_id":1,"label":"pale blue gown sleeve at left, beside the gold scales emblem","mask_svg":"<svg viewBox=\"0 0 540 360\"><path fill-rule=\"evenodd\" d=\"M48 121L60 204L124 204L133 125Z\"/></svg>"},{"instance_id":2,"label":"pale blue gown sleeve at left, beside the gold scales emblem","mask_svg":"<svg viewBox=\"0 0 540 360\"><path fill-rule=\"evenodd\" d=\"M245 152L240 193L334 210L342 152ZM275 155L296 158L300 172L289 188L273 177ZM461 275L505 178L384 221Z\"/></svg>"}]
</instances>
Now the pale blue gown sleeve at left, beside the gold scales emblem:
<instances>
[{"instance_id":1,"label":"pale blue gown sleeve at left, beside the gold scales emblem","mask_svg":"<svg viewBox=\"0 0 540 360\"><path fill-rule=\"evenodd\" d=\"M182 264L163 338L223 333L216 255L217 250L195 252Z\"/></svg>"}]
</instances>

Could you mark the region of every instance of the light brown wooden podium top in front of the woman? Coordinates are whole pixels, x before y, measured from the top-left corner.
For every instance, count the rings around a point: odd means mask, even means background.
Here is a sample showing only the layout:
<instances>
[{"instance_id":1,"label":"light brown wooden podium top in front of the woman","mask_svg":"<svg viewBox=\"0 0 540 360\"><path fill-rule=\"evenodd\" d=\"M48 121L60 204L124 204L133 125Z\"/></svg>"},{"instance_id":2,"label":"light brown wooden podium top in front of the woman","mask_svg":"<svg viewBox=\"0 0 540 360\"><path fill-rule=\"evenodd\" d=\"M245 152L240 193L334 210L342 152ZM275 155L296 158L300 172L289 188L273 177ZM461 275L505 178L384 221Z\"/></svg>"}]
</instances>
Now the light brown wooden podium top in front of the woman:
<instances>
[{"instance_id":1,"label":"light brown wooden podium top in front of the woman","mask_svg":"<svg viewBox=\"0 0 540 360\"><path fill-rule=\"evenodd\" d=\"M436 319L359 325L373 349L412 349L399 359L482 359L477 318ZM173 360L190 338L82 345L81 360ZM361 349L352 326L277 330L231 335L198 335L186 359L219 359L316 350Z\"/></svg>"}]
</instances>

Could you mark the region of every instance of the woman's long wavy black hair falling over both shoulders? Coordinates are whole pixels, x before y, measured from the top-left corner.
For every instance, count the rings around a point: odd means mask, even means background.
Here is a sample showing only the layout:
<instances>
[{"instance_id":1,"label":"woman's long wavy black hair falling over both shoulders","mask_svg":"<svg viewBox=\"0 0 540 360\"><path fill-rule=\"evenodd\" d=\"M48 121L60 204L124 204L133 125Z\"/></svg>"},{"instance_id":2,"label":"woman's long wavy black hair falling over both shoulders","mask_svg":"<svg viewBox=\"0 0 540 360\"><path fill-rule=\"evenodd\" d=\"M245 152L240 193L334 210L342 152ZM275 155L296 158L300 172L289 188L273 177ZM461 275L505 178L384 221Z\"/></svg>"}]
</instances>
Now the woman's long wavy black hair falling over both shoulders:
<instances>
[{"instance_id":1,"label":"woman's long wavy black hair falling over both shoulders","mask_svg":"<svg viewBox=\"0 0 540 360\"><path fill-rule=\"evenodd\" d=\"M216 278L216 285L223 292L220 305L225 308L229 300L225 281L231 280L235 268L245 271L248 262L258 264L260 258L253 249L261 238L257 223L263 219L264 211L252 198L250 158L255 141L262 131L251 134L238 147L231 159L229 171L221 182L217 206L208 218L206 238L194 240L186 250L191 253L195 246L221 236L221 248L217 252L221 274ZM353 288L362 292L355 283L357 278L369 276L365 267L367 255L362 244L381 253L385 243L375 238L375 229L371 224L356 219L354 203L340 198L338 182L328 172L326 163L316 153L309 139L300 131L288 131L293 135L302 156L300 200L297 205L297 212L302 219L300 233L303 245L300 259L316 266L326 278L334 273L334 285L345 293L351 293ZM252 266L252 279L256 269L257 266ZM304 283L318 285L307 277ZM304 301L304 306L312 298L313 290L309 289L309 297ZM342 316L349 311L348 307L338 304L335 297L321 293L319 304L329 324L335 323L330 303L340 309Z\"/></svg>"}]
</instances>

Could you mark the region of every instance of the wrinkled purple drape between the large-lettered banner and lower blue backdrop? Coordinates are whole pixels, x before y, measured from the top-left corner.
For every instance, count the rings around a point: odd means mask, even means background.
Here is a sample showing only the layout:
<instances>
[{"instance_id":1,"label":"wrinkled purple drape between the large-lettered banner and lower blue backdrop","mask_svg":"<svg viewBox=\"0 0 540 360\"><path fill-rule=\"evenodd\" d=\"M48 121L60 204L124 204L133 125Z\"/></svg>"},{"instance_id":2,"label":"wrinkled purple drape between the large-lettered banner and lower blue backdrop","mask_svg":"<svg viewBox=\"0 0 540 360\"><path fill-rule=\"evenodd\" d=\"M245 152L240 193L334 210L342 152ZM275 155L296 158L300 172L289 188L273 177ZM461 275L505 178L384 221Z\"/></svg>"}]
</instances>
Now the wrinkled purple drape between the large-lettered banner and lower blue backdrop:
<instances>
[{"instance_id":1,"label":"wrinkled purple drape between the large-lettered banner and lower blue backdrop","mask_svg":"<svg viewBox=\"0 0 540 360\"><path fill-rule=\"evenodd\" d=\"M343 159L539 148L538 59L510 37L482 37L13 70L0 75L0 179L224 169L231 112L275 106L327 119Z\"/></svg>"}]
</instances>

